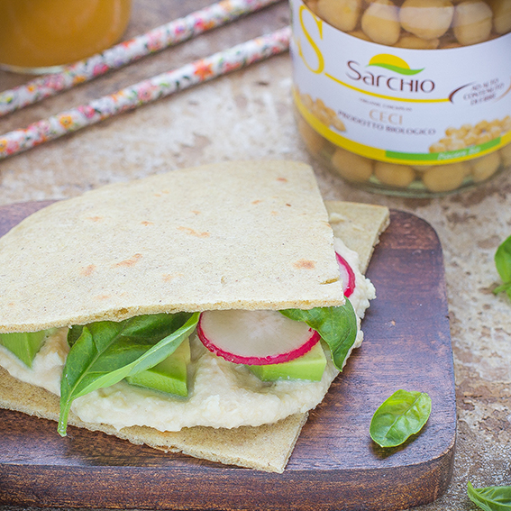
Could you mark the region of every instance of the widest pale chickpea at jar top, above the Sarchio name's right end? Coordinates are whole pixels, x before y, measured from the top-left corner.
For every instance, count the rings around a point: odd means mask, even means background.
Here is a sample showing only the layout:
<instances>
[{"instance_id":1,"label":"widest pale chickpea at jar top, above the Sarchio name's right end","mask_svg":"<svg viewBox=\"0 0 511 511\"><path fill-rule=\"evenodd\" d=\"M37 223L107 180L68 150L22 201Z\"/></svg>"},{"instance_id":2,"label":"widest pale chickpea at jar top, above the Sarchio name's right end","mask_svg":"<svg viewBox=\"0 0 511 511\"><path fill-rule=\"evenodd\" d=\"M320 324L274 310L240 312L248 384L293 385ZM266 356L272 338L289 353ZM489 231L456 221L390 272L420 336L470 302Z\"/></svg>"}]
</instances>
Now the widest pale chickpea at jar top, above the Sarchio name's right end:
<instances>
[{"instance_id":1,"label":"widest pale chickpea at jar top, above the Sarchio name's right end","mask_svg":"<svg viewBox=\"0 0 511 511\"><path fill-rule=\"evenodd\" d=\"M407 32L421 39L436 39L449 30L453 15L450 0L406 0L399 21Z\"/></svg>"}]
</instances>

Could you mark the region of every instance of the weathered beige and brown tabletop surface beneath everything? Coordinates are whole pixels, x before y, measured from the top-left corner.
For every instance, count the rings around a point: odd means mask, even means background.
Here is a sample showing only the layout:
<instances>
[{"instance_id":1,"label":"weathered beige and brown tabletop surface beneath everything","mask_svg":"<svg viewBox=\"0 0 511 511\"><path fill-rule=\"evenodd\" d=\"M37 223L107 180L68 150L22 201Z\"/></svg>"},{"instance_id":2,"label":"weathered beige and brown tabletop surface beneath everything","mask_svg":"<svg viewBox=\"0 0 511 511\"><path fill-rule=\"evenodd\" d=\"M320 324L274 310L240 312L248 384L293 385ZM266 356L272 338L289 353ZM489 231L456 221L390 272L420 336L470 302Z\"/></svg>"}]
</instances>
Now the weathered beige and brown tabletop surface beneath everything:
<instances>
[{"instance_id":1,"label":"weathered beige and brown tabletop surface beneath everything","mask_svg":"<svg viewBox=\"0 0 511 511\"><path fill-rule=\"evenodd\" d=\"M134 0L127 36L209 3ZM279 3L0 119L0 132L287 23L286 2ZM26 79L0 71L0 89ZM511 172L473 191L432 200L365 193L307 156L293 119L290 87L285 54L0 161L0 205L77 196L106 183L213 161L293 159L314 166L324 198L388 205L423 217L443 243L459 433L450 488L432 505L417 509L475 509L466 494L468 480L476 487L511 485L511 302L491 292L499 282L494 253L511 234Z\"/></svg>"}]
</instances>

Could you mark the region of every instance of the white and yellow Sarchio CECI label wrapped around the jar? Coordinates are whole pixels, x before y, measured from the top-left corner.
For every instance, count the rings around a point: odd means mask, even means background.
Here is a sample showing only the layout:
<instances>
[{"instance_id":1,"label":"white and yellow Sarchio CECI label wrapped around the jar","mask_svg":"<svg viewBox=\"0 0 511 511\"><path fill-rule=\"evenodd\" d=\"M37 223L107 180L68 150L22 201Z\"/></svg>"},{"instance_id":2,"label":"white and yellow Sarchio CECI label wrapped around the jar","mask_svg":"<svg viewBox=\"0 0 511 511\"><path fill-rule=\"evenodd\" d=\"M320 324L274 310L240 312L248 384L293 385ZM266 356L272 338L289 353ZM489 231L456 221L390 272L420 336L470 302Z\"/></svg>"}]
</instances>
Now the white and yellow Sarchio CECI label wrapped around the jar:
<instances>
[{"instance_id":1,"label":"white and yellow Sarchio CECI label wrapped around the jar","mask_svg":"<svg viewBox=\"0 0 511 511\"><path fill-rule=\"evenodd\" d=\"M511 33L407 50L333 28L291 0L297 108L329 141L373 160L439 165L511 142Z\"/></svg>"}]
</instances>

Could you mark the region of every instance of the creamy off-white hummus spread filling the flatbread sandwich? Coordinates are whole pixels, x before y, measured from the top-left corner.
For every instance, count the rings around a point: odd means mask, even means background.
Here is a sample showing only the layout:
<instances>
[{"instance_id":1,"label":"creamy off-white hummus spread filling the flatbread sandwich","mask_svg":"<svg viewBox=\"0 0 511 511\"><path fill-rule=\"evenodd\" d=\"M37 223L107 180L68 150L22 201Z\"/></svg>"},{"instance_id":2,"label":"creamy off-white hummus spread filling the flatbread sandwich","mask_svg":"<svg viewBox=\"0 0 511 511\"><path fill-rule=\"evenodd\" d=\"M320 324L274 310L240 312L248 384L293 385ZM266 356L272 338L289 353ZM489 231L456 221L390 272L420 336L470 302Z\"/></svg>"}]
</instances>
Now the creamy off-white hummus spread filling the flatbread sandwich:
<instances>
[{"instance_id":1,"label":"creamy off-white hummus spread filling the flatbread sandwich","mask_svg":"<svg viewBox=\"0 0 511 511\"><path fill-rule=\"evenodd\" d=\"M359 270L359 257L338 239L335 250L355 272L355 290L350 297L360 324L375 289ZM67 328L51 335L26 367L11 351L0 346L0 365L16 379L46 388L59 395L60 377L68 353ZM360 346L357 335L353 348ZM241 425L270 424L317 406L324 398L338 370L330 355L321 381L262 382L244 366L221 359L194 335L190 339L192 362L189 397L168 397L149 388L138 388L121 381L100 388L73 402L72 411L88 423L111 424L116 429L146 425L160 431L179 431L205 425L234 428Z\"/></svg>"}]
</instances>

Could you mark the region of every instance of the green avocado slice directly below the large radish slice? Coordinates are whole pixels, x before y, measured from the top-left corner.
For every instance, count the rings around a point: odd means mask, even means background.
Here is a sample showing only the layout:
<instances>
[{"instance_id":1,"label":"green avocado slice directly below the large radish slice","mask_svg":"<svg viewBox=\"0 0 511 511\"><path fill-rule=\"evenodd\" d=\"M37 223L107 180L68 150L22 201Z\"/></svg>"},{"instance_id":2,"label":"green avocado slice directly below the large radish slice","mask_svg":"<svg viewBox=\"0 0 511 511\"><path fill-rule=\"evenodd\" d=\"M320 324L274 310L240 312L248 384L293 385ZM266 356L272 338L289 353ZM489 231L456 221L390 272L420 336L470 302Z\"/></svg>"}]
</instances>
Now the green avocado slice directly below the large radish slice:
<instances>
[{"instance_id":1,"label":"green avocado slice directly below the large radish slice","mask_svg":"<svg viewBox=\"0 0 511 511\"><path fill-rule=\"evenodd\" d=\"M251 373L262 381L278 379L308 379L320 381L326 367L326 357L321 342L317 342L311 351L295 360L266 366L246 366Z\"/></svg>"}]
</instances>

